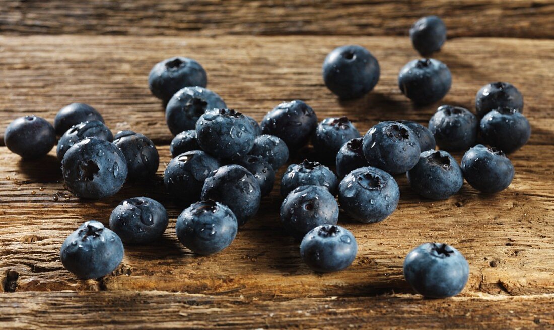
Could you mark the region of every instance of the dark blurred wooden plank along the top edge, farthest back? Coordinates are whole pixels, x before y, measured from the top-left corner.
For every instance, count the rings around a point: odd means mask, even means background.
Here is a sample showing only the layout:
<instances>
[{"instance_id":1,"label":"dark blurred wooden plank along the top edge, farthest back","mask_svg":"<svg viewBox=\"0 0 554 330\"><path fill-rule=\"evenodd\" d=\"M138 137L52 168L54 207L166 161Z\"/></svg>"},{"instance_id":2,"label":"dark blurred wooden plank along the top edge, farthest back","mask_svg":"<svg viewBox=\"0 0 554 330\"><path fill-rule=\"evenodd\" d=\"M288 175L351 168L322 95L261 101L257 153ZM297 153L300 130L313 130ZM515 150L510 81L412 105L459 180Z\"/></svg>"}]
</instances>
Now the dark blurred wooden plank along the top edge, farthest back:
<instances>
[{"instance_id":1,"label":"dark blurred wooden plank along the top edge, farthest back","mask_svg":"<svg viewBox=\"0 0 554 330\"><path fill-rule=\"evenodd\" d=\"M554 36L549 0L3 0L0 9L4 34L407 35L417 18L437 14L450 37Z\"/></svg>"}]
</instances>

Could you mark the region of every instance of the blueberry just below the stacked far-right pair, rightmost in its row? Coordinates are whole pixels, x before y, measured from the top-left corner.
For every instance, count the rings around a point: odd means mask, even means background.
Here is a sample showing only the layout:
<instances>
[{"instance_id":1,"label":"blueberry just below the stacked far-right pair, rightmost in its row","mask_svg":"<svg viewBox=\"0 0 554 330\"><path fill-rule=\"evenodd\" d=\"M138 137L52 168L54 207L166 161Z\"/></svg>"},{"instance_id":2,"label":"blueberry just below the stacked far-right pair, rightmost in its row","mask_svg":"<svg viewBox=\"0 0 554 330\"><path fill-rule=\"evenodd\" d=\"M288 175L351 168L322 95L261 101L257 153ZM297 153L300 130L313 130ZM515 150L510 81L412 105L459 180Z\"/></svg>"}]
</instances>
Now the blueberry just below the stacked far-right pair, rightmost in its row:
<instances>
[{"instance_id":1,"label":"blueberry just below the stacked far-right pair, rightmost in its row","mask_svg":"<svg viewBox=\"0 0 554 330\"><path fill-rule=\"evenodd\" d=\"M514 179L514 165L496 148L478 144L461 159L465 180L476 190L494 193L506 189Z\"/></svg>"}]
</instances>

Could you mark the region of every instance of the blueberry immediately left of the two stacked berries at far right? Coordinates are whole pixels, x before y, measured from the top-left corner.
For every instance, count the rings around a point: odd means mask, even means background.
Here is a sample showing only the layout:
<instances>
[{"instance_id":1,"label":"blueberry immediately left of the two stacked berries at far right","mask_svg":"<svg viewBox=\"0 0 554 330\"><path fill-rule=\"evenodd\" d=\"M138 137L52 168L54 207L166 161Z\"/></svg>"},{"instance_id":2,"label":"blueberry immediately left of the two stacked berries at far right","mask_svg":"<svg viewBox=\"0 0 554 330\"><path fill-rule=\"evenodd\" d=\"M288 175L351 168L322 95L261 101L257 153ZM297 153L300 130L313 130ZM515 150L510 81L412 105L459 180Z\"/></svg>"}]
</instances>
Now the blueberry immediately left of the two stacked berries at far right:
<instances>
[{"instance_id":1,"label":"blueberry immediately left of the two stacked berries at far right","mask_svg":"<svg viewBox=\"0 0 554 330\"><path fill-rule=\"evenodd\" d=\"M440 106L429 119L429 130L440 149L466 150L475 145L479 121L468 109Z\"/></svg>"}]
</instances>

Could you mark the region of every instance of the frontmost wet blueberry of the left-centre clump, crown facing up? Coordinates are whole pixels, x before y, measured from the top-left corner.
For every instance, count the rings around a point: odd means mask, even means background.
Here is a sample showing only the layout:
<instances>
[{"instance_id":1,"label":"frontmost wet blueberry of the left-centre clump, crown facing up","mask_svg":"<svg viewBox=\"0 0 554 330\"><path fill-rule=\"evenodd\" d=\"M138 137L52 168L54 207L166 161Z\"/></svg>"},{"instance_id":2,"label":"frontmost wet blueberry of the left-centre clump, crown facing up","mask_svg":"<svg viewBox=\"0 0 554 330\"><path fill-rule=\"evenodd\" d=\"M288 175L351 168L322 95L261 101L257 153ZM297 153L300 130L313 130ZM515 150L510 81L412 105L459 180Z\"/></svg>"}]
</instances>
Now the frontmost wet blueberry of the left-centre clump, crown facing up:
<instances>
[{"instance_id":1,"label":"frontmost wet blueberry of the left-centre clump, crown facing up","mask_svg":"<svg viewBox=\"0 0 554 330\"><path fill-rule=\"evenodd\" d=\"M237 235L237 218L218 202L197 202L177 218L177 238L198 254L213 254L227 248Z\"/></svg>"}]
</instances>

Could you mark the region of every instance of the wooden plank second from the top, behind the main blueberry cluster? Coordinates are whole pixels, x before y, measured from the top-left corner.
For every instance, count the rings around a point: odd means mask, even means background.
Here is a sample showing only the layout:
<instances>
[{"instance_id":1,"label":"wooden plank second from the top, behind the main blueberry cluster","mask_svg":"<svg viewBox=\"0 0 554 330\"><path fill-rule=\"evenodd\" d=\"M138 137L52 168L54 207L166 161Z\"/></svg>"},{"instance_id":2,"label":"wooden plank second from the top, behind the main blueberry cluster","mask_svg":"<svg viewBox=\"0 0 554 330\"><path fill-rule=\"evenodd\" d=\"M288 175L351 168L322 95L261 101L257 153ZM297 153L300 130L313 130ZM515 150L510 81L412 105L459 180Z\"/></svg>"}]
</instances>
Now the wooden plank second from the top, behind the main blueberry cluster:
<instances>
[{"instance_id":1,"label":"wooden plank second from the top, behind the main blueberry cluster","mask_svg":"<svg viewBox=\"0 0 554 330\"><path fill-rule=\"evenodd\" d=\"M381 80L365 98L339 102L324 86L321 63L335 46L370 49L381 63ZM281 101L300 98L319 114L346 114L358 127L383 119L426 122L440 104L474 108L485 83L509 81L525 96L533 128L531 144L552 144L554 134L554 41L460 38L437 58L453 73L440 103L414 107L397 87L401 67L417 55L404 37L223 36L218 38L124 36L0 36L0 139L14 118L35 113L53 120L71 102L99 109L110 128L132 127L168 143L160 102L148 91L153 64L172 55L191 56L206 67L208 87L229 107L261 119ZM125 116L122 116L125 114Z\"/></svg>"}]
</instances>

